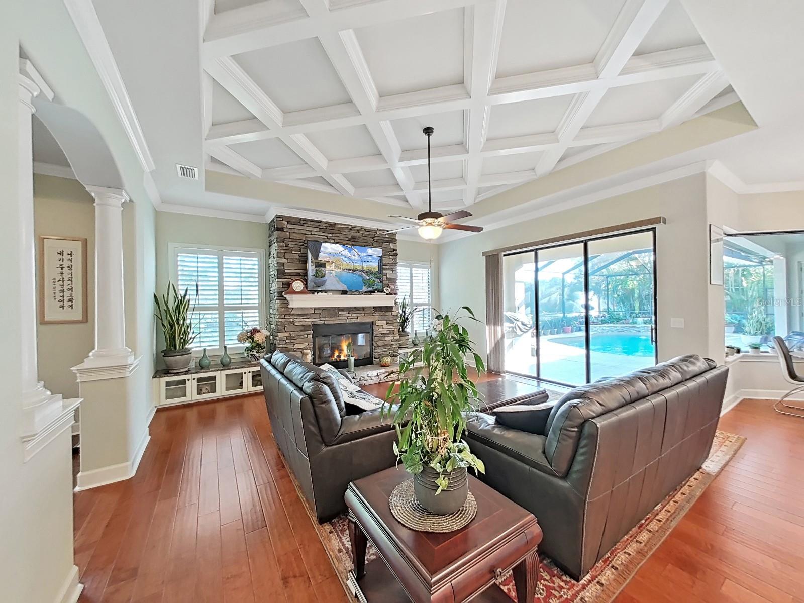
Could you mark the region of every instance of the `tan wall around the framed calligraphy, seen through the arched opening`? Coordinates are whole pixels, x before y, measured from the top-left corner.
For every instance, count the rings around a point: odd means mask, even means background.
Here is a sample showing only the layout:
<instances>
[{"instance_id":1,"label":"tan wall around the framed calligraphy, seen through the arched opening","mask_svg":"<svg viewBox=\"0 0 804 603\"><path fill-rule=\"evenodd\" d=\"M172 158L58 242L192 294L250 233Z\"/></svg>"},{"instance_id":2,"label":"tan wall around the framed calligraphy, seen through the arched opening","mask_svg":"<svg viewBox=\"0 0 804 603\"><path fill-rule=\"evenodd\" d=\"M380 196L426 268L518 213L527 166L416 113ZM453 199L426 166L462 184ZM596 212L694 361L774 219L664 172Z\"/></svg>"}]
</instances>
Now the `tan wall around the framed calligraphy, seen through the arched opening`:
<instances>
[{"instance_id":1,"label":"tan wall around the framed calligraphy, seen through the arched opening","mask_svg":"<svg viewBox=\"0 0 804 603\"><path fill-rule=\"evenodd\" d=\"M84 362L95 345L95 207L92 197L76 180L35 174L34 230L37 240L40 235L75 236L87 240L88 321L39 324L36 332L39 379L51 392L65 398L77 398L78 382L70 368ZM36 254L36 269L40 270L39 244Z\"/></svg>"}]
</instances>

